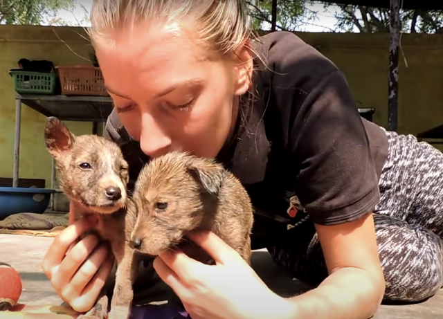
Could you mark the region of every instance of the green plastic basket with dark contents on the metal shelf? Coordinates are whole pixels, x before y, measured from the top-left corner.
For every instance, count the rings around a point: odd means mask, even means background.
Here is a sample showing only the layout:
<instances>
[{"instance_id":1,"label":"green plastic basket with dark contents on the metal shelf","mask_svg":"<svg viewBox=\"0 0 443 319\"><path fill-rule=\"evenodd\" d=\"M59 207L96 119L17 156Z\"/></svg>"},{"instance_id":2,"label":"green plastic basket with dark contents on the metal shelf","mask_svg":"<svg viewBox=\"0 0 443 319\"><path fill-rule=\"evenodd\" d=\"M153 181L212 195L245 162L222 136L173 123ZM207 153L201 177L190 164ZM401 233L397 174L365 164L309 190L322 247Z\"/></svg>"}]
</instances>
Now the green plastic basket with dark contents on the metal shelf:
<instances>
[{"instance_id":1,"label":"green plastic basket with dark contents on the metal shelf","mask_svg":"<svg viewBox=\"0 0 443 319\"><path fill-rule=\"evenodd\" d=\"M57 75L21 70L11 70L15 91L19 94L55 94Z\"/></svg>"}]
</instances>

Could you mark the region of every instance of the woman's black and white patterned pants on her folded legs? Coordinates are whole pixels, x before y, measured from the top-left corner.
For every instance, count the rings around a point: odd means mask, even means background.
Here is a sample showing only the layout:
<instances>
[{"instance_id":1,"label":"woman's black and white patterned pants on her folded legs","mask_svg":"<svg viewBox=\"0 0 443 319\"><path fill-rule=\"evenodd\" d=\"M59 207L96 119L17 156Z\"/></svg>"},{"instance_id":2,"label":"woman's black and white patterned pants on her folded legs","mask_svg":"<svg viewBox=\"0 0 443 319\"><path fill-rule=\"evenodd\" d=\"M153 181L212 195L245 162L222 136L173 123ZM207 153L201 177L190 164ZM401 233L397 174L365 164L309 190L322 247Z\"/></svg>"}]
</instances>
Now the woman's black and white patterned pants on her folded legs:
<instances>
[{"instance_id":1,"label":"woman's black and white patterned pants on her folded legs","mask_svg":"<svg viewBox=\"0 0 443 319\"><path fill-rule=\"evenodd\" d=\"M414 136L386 131L389 154L374 211L385 301L417 302L443 285L443 154ZM288 230L284 244L268 248L273 261L309 284L327 277L309 219ZM296 244L295 244L296 243Z\"/></svg>"}]
</instances>

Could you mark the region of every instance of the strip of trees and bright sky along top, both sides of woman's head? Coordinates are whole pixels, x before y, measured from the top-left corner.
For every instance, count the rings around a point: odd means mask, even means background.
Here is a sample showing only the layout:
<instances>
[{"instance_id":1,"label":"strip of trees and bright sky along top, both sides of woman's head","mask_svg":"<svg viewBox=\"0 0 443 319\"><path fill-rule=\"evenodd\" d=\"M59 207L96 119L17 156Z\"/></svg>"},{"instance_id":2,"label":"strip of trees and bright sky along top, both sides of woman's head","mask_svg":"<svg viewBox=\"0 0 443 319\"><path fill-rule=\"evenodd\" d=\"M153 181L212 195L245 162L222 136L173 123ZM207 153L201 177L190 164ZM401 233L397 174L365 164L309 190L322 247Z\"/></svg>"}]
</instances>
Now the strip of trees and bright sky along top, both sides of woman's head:
<instances>
[{"instance_id":1,"label":"strip of trees and bright sky along top, both sides of woman's head","mask_svg":"<svg viewBox=\"0 0 443 319\"><path fill-rule=\"evenodd\" d=\"M69 23L57 16L57 12L73 12L78 3L80 0L0 0L0 24L67 25ZM246 0L246 3L255 30L271 30L272 0ZM390 14L386 8L336 5L315 0L278 0L277 7L277 30L300 31L308 26L321 26L319 11L323 10L336 18L332 32L389 32ZM74 25L87 23L87 10L84 7L83 10L84 17L76 17ZM443 12L401 10L400 21L404 33L443 33Z\"/></svg>"}]
</instances>

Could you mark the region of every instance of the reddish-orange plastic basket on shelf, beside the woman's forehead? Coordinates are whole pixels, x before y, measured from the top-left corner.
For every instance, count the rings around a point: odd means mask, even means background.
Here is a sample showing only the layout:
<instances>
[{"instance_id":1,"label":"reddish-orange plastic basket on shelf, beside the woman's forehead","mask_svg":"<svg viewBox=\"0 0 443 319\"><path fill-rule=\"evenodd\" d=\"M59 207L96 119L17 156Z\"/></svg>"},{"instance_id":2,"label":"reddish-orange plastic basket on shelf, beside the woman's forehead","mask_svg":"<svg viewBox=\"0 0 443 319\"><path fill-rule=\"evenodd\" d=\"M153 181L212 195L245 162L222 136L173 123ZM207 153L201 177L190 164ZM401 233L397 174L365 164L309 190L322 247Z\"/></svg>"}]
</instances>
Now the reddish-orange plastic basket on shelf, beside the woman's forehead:
<instances>
[{"instance_id":1,"label":"reddish-orange plastic basket on shelf, beside the woman's forehead","mask_svg":"<svg viewBox=\"0 0 443 319\"><path fill-rule=\"evenodd\" d=\"M64 95L109 96L102 71L89 65L55 66Z\"/></svg>"}]
</instances>

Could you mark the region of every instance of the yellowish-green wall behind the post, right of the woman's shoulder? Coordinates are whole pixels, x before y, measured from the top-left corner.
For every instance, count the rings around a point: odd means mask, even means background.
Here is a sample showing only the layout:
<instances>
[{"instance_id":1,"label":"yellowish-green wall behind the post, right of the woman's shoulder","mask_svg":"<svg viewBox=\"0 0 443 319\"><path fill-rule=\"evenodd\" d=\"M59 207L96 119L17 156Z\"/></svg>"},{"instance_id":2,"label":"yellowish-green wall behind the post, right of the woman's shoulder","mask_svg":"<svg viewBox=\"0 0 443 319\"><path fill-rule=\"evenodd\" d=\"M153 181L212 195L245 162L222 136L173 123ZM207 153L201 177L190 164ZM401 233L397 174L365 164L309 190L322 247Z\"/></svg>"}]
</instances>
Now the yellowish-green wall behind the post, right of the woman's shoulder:
<instances>
[{"instance_id":1,"label":"yellowish-green wall behind the post, right of the woman's shoulder","mask_svg":"<svg viewBox=\"0 0 443 319\"><path fill-rule=\"evenodd\" d=\"M376 109L374 122L387 127L389 35L299 35L343 71L360 107ZM443 35L402 35L399 60L398 131L443 124Z\"/></svg>"}]
</instances>

